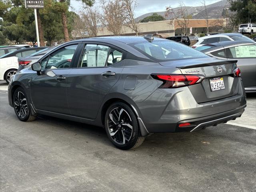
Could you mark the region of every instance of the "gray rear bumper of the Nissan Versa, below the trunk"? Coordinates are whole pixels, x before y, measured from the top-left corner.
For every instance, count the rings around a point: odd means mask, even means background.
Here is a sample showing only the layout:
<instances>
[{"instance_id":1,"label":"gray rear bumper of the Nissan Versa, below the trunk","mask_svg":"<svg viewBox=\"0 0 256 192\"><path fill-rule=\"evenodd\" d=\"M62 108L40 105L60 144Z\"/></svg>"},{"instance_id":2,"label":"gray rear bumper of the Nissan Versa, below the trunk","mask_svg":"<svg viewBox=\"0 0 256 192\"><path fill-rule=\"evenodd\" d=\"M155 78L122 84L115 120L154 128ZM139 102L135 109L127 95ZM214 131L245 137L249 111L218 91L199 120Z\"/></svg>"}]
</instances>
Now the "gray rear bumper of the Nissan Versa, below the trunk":
<instances>
[{"instance_id":1,"label":"gray rear bumper of the Nissan Versa, below the trunk","mask_svg":"<svg viewBox=\"0 0 256 192\"><path fill-rule=\"evenodd\" d=\"M182 132L214 126L238 118L246 107L246 94L239 81L238 93L198 104L188 87L157 89L144 102L136 103L150 133ZM178 127L181 123L191 126Z\"/></svg>"}]
</instances>

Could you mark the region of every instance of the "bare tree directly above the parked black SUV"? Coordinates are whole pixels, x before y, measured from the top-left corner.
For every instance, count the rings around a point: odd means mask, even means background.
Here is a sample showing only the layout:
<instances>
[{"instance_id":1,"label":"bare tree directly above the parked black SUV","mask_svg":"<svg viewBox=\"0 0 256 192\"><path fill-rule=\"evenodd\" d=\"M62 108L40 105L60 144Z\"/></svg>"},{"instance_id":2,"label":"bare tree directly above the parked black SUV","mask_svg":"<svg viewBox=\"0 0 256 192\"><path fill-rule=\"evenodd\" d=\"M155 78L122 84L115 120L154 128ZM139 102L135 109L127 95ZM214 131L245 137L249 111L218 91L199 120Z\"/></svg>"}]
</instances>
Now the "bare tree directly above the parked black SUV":
<instances>
[{"instance_id":1,"label":"bare tree directly above the parked black SUV","mask_svg":"<svg viewBox=\"0 0 256 192\"><path fill-rule=\"evenodd\" d=\"M182 28L182 34L187 33L190 15L182 1L179 2L179 6L175 10L171 6L166 7L165 15L166 17L170 16L171 18L174 18L174 20L171 20L170 24L173 24L173 22L176 21L178 26Z\"/></svg>"}]
</instances>

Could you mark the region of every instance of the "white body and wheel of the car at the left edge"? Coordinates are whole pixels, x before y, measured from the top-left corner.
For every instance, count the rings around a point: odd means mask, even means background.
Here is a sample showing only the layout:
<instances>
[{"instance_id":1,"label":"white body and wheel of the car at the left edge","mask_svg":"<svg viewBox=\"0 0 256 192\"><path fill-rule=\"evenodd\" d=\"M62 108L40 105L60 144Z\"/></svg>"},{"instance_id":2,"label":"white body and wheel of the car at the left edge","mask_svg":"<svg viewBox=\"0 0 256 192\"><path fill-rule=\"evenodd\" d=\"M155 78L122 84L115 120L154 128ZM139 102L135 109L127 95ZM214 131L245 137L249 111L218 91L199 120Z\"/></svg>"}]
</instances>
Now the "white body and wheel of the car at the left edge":
<instances>
[{"instance_id":1,"label":"white body and wheel of the car at the left edge","mask_svg":"<svg viewBox=\"0 0 256 192\"><path fill-rule=\"evenodd\" d=\"M0 80L6 80L7 83L19 68L18 57L7 57L0 59Z\"/></svg>"}]
</instances>

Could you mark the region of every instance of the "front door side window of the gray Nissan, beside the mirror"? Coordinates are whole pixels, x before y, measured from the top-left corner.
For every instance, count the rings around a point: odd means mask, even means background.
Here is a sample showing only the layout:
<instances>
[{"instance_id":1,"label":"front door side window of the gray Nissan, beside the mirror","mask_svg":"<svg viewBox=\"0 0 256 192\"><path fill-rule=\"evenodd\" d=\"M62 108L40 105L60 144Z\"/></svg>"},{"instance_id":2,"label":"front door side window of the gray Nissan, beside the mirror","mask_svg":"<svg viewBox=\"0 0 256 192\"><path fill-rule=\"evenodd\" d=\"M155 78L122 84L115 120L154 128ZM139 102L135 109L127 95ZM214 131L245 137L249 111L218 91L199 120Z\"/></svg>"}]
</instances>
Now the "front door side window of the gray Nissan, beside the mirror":
<instances>
[{"instance_id":1,"label":"front door side window of the gray Nissan, beside the mirror","mask_svg":"<svg viewBox=\"0 0 256 192\"><path fill-rule=\"evenodd\" d=\"M52 53L45 64L44 60L42 61L42 69L69 68L77 46L77 44L66 46Z\"/></svg>"}]
</instances>

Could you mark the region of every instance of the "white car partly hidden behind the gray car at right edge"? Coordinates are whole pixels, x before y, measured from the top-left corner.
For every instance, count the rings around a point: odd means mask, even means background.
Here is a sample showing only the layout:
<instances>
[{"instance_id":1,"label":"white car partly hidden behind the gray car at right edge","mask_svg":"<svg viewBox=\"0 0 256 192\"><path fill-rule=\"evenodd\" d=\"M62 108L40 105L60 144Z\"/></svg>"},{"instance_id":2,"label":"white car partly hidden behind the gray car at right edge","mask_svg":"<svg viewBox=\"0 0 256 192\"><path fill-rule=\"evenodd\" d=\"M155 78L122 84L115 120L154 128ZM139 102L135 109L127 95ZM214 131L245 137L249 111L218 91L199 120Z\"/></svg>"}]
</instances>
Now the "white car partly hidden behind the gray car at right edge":
<instances>
[{"instance_id":1,"label":"white car partly hidden behind the gray car at right edge","mask_svg":"<svg viewBox=\"0 0 256 192\"><path fill-rule=\"evenodd\" d=\"M223 33L216 35L209 35L198 38L196 44L192 46L192 48L200 47L206 44L212 44L223 41L248 41L254 42L254 40L240 34L240 33Z\"/></svg>"}]
</instances>

